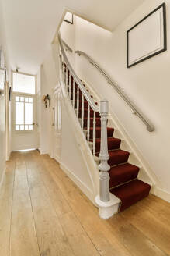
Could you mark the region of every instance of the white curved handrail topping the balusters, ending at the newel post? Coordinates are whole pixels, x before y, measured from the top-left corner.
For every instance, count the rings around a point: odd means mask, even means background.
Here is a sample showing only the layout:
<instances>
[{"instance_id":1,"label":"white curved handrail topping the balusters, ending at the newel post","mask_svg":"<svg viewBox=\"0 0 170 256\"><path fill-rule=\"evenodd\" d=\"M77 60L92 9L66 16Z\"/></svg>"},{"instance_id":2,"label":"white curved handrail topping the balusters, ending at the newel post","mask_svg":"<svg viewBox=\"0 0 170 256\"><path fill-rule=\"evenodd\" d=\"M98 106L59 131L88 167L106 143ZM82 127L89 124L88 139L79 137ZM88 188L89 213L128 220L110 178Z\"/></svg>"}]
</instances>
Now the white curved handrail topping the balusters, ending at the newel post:
<instances>
[{"instance_id":1,"label":"white curved handrail topping the balusters, ending at the newel post","mask_svg":"<svg viewBox=\"0 0 170 256\"><path fill-rule=\"evenodd\" d=\"M79 80L78 76L76 75L75 71L72 69L70 62L68 61L68 57L64 52L63 44L62 44L62 39L61 39L61 34L58 34L58 40L61 46L61 52L62 55L64 56L64 62L66 62L68 69L71 71L71 75L73 76L75 82L78 84L78 87L82 91L82 94L84 94L85 99L88 101L88 104L92 108L93 111L99 112L99 106L95 105L95 101L92 100L92 97L90 94L88 94L88 91L85 90L85 87L83 86L81 80Z\"/></svg>"}]
</instances>

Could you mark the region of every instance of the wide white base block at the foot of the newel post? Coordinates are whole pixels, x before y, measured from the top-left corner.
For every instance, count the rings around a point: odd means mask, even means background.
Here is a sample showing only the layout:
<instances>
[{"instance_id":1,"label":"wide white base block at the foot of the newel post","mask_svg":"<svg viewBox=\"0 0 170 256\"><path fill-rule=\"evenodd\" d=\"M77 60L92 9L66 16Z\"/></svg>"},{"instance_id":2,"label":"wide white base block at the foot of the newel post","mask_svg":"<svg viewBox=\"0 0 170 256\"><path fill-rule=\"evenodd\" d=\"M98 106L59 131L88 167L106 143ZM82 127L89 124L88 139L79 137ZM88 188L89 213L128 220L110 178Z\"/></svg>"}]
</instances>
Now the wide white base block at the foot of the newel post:
<instances>
[{"instance_id":1,"label":"wide white base block at the foot of the newel post","mask_svg":"<svg viewBox=\"0 0 170 256\"><path fill-rule=\"evenodd\" d=\"M118 197L109 193L109 201L101 201L99 195L97 195L95 197L95 203L99 207L100 218L109 219L118 212L121 201Z\"/></svg>"}]
</instances>

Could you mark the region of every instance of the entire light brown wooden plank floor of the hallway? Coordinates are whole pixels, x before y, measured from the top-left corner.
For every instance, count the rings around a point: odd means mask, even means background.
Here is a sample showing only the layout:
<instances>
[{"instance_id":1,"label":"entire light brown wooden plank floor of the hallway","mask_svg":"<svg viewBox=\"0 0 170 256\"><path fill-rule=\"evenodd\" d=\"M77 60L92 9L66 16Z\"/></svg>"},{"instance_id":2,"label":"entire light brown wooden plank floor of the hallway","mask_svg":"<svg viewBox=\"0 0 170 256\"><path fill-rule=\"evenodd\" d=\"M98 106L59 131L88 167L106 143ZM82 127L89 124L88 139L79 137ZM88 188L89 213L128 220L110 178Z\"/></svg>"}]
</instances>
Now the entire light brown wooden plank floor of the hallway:
<instances>
[{"instance_id":1,"label":"entire light brown wooden plank floor of the hallway","mask_svg":"<svg viewBox=\"0 0 170 256\"><path fill-rule=\"evenodd\" d=\"M0 256L170 255L169 205L150 195L99 219L57 162L13 152L0 194Z\"/></svg>"}]
</instances>

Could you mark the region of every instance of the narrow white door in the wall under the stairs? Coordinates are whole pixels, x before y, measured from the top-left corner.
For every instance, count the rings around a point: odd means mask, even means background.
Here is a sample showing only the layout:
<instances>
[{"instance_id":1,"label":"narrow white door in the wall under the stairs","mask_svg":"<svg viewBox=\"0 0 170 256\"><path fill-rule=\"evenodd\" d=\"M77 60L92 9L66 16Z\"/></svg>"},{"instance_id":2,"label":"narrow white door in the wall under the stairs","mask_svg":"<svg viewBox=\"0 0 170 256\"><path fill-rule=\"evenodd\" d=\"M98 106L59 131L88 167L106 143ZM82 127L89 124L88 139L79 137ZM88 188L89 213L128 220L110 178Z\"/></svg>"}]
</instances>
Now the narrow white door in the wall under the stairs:
<instances>
[{"instance_id":1,"label":"narrow white door in the wall under the stairs","mask_svg":"<svg viewBox=\"0 0 170 256\"><path fill-rule=\"evenodd\" d=\"M61 158L61 91L54 91L53 108L53 127L54 127L54 158L60 162Z\"/></svg>"}]
</instances>

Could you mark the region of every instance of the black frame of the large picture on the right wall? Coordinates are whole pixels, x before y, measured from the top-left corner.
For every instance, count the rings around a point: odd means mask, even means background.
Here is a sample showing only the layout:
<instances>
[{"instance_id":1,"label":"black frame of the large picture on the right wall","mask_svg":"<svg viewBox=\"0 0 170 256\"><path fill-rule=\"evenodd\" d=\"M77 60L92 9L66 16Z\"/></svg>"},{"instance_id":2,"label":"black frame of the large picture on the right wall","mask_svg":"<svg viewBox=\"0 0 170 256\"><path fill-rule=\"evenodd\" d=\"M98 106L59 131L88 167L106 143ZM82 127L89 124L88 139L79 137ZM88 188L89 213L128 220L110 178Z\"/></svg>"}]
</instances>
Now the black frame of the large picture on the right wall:
<instances>
[{"instance_id":1,"label":"black frame of the large picture on the right wall","mask_svg":"<svg viewBox=\"0 0 170 256\"><path fill-rule=\"evenodd\" d=\"M163 12L163 38L164 38L164 47L159 50L158 52L154 52L151 55L148 55L147 57L144 57L144 59L140 59L137 62L134 62L133 64L129 64L129 33L131 30L134 29L134 27L137 27L140 23L142 23L144 20L146 20L149 16L151 16L154 12L157 12L158 9L162 8ZM160 54L161 52L165 52L167 50L167 29L166 29L166 5L165 2L159 5L156 9L154 9L152 12L150 12L147 16L145 16L142 20L140 20L137 24L135 24L133 27L130 28L130 30L127 30L127 68L130 68L131 66L135 66L140 62L144 62L147 59L150 59L151 57Z\"/></svg>"}]
</instances>

